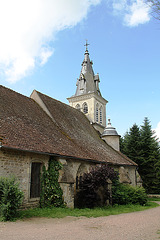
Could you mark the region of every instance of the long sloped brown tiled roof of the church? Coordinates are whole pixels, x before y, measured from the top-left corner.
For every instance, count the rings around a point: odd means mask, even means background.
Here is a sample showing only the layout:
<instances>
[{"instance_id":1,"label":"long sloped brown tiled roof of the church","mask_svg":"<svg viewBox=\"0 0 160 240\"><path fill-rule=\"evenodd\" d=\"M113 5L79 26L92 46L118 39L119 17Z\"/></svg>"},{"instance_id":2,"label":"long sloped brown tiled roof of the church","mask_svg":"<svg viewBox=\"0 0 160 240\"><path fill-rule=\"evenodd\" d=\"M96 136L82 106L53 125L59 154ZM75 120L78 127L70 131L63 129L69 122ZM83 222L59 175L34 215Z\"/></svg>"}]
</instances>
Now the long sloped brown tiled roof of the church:
<instances>
[{"instance_id":1,"label":"long sloped brown tiled roof of the church","mask_svg":"<svg viewBox=\"0 0 160 240\"><path fill-rule=\"evenodd\" d=\"M0 141L4 147L136 165L107 145L82 112L37 93L53 119L33 99L0 86Z\"/></svg>"}]
</instances>

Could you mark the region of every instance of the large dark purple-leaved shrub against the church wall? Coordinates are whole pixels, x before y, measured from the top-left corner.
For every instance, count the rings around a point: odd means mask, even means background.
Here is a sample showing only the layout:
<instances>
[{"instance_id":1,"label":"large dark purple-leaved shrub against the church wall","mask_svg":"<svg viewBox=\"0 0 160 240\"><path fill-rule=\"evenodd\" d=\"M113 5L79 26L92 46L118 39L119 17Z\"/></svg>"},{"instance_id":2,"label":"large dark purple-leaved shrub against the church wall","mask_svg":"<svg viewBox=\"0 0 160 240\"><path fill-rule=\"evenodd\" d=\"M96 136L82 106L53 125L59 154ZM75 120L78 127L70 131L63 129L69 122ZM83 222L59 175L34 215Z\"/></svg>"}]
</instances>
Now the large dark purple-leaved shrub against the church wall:
<instances>
[{"instance_id":1,"label":"large dark purple-leaved shrub against the church wall","mask_svg":"<svg viewBox=\"0 0 160 240\"><path fill-rule=\"evenodd\" d=\"M76 196L77 207L94 208L105 205L110 198L110 193L107 190L108 179L111 181L118 179L118 173L107 164L102 164L93 168L89 173L84 173ZM102 199L100 199L100 195Z\"/></svg>"}]
</instances>

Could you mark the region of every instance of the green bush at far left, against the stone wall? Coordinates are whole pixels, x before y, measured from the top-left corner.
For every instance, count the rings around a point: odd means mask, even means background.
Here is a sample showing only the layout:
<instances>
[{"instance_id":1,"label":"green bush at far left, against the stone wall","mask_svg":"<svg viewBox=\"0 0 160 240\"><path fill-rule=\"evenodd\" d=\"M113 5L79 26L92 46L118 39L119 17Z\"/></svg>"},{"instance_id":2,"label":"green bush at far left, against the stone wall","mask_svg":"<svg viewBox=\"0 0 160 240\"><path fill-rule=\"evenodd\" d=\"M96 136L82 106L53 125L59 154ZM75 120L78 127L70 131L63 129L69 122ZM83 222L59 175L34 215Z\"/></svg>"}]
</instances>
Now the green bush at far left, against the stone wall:
<instances>
[{"instance_id":1,"label":"green bush at far left, against the stone wall","mask_svg":"<svg viewBox=\"0 0 160 240\"><path fill-rule=\"evenodd\" d=\"M3 220L8 221L16 217L22 199L23 192L14 177L0 178L0 215Z\"/></svg>"}]
</instances>

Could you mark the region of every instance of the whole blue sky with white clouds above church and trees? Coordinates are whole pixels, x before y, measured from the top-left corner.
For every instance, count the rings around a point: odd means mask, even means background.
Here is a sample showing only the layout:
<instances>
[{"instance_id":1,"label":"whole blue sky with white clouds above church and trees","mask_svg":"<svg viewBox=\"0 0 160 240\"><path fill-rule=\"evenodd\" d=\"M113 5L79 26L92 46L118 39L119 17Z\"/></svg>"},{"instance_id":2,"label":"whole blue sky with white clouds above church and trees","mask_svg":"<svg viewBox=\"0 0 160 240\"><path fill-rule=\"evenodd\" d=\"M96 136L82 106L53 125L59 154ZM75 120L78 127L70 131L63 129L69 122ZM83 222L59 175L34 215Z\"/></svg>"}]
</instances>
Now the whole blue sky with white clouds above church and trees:
<instances>
[{"instance_id":1,"label":"whole blue sky with white clouds above church and trees","mask_svg":"<svg viewBox=\"0 0 160 240\"><path fill-rule=\"evenodd\" d=\"M0 0L0 84L68 104L88 39L107 118L160 138L160 21L143 0Z\"/></svg>"}]
</instances>

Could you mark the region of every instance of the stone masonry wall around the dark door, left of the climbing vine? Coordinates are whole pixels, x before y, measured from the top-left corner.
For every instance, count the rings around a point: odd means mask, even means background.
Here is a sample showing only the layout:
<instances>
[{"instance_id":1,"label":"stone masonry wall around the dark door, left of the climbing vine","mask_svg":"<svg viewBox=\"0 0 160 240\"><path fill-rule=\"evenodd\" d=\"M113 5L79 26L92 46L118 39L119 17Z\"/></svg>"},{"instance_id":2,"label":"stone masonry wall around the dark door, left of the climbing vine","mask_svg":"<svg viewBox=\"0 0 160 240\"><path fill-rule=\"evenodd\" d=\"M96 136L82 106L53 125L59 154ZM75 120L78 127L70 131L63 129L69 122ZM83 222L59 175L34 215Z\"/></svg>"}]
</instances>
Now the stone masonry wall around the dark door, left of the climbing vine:
<instances>
[{"instance_id":1,"label":"stone masonry wall around the dark door, left of the climbing vine","mask_svg":"<svg viewBox=\"0 0 160 240\"><path fill-rule=\"evenodd\" d=\"M0 151L0 177L15 176L24 192L23 205L32 204L30 199L31 163L48 163L48 156L18 151Z\"/></svg>"}]
</instances>

